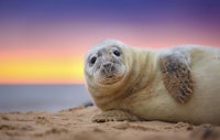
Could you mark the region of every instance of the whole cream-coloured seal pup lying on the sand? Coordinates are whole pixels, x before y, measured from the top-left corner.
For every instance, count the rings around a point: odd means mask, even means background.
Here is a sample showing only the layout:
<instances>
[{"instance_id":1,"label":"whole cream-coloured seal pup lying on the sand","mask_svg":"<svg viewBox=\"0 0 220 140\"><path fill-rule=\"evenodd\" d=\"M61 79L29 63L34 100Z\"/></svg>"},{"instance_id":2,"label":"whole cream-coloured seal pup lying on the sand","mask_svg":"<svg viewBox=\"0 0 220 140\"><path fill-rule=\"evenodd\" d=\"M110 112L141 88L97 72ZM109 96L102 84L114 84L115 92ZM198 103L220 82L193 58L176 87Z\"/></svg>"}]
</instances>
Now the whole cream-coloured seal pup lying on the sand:
<instances>
[{"instance_id":1,"label":"whole cream-coloured seal pup lying on the sand","mask_svg":"<svg viewBox=\"0 0 220 140\"><path fill-rule=\"evenodd\" d=\"M220 125L220 49L141 49L105 40L86 54L84 73L102 110L92 121Z\"/></svg>"}]
</instances>

